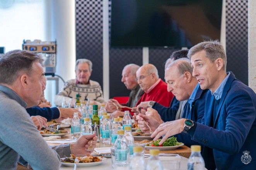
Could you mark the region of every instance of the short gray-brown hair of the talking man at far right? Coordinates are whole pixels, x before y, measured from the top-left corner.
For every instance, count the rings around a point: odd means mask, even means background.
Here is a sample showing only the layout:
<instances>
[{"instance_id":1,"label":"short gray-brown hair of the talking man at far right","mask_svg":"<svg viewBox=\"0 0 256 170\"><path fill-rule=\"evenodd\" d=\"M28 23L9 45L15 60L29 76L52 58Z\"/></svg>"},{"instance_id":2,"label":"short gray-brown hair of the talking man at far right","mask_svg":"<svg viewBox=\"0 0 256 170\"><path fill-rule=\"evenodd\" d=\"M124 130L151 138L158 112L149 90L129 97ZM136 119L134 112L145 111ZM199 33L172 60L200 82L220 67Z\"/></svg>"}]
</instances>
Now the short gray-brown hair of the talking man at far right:
<instances>
[{"instance_id":1,"label":"short gray-brown hair of the talking man at far right","mask_svg":"<svg viewBox=\"0 0 256 170\"><path fill-rule=\"evenodd\" d=\"M227 66L227 56L223 46L218 40L205 41L199 44L196 44L188 51L188 58L191 60L191 56L200 52L201 50L205 51L205 55L211 62L214 62L216 59L221 58L224 62L223 69L226 70Z\"/></svg>"}]
</instances>

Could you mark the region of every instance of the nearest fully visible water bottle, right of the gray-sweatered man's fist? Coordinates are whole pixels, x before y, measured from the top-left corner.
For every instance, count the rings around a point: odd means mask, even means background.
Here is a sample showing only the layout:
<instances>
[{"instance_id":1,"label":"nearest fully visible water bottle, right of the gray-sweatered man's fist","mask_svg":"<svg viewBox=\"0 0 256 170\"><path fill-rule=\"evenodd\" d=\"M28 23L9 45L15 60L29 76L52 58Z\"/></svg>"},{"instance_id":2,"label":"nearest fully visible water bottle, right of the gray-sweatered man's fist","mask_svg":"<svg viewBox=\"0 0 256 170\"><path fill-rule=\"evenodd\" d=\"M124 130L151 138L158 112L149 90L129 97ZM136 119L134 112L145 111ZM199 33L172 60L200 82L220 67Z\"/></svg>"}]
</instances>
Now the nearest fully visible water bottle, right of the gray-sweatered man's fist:
<instances>
[{"instance_id":1,"label":"nearest fully visible water bottle, right of the gray-sweatered man's fist","mask_svg":"<svg viewBox=\"0 0 256 170\"><path fill-rule=\"evenodd\" d=\"M115 164L116 166L128 166L129 165L129 147L125 138L125 131L118 130L118 137L115 142Z\"/></svg>"}]
</instances>

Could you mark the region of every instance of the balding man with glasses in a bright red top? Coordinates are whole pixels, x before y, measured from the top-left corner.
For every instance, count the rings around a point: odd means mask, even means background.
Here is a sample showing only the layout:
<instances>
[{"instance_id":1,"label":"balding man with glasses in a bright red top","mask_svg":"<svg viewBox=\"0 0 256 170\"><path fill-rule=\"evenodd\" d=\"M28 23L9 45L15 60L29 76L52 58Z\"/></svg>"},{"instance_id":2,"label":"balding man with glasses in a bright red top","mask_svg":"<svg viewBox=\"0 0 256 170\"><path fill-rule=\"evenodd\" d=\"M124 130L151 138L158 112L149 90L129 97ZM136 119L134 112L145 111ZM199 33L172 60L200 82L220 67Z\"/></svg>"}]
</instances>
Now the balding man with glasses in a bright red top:
<instances>
[{"instance_id":1,"label":"balding man with glasses in a bright red top","mask_svg":"<svg viewBox=\"0 0 256 170\"><path fill-rule=\"evenodd\" d=\"M167 91L166 82L159 78L157 68L153 64L141 66L136 72L136 80L145 92L136 106L142 101L155 101L166 107L170 105L173 94ZM136 109L133 108L133 111Z\"/></svg>"}]
</instances>

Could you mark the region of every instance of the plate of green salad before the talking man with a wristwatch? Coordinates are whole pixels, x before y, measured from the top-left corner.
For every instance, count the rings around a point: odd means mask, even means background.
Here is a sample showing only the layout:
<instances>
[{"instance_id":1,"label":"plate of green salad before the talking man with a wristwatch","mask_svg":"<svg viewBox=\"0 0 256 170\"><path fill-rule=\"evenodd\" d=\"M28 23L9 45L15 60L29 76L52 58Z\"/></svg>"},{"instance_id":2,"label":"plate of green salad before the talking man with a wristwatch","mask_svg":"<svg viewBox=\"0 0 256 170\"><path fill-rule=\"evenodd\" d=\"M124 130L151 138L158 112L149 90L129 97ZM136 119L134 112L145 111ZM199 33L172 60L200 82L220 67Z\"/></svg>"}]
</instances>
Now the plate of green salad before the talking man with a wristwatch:
<instances>
[{"instance_id":1,"label":"plate of green salad before the talking man with a wristwatch","mask_svg":"<svg viewBox=\"0 0 256 170\"><path fill-rule=\"evenodd\" d=\"M162 145L159 145L159 142L162 139L158 139L154 142L148 143L147 145L145 145L146 149L159 149L159 150L172 150L172 149L176 149L179 148L180 146L183 146L184 143L178 142L177 138L172 136L171 138L168 138L166 141L164 141L164 143L162 143Z\"/></svg>"}]
</instances>

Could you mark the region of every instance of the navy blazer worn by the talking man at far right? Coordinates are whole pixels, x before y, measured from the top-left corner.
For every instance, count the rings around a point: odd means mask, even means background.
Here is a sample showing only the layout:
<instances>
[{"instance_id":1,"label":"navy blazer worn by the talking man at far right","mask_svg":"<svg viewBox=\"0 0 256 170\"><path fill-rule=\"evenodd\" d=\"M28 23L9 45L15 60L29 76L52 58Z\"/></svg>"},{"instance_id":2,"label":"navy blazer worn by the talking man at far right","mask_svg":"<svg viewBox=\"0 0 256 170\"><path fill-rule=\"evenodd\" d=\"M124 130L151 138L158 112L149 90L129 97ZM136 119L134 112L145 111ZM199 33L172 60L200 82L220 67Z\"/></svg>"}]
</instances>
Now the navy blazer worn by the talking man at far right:
<instances>
[{"instance_id":1,"label":"navy blazer worn by the talking man at far right","mask_svg":"<svg viewBox=\"0 0 256 170\"><path fill-rule=\"evenodd\" d=\"M203 119L201 123L195 123L194 130L189 130L192 139L204 145L202 155L206 168L210 170L216 166L218 170L255 169L256 94L230 72L219 107L215 109L217 115L213 120L213 127L210 127L213 101L214 96L208 91ZM246 157L242 157L243 155ZM210 163L212 160L215 165Z\"/></svg>"}]
</instances>

